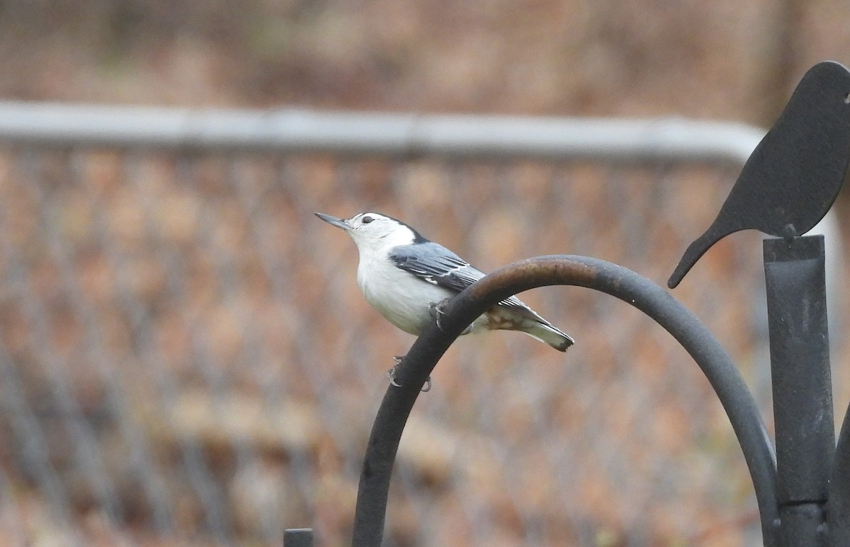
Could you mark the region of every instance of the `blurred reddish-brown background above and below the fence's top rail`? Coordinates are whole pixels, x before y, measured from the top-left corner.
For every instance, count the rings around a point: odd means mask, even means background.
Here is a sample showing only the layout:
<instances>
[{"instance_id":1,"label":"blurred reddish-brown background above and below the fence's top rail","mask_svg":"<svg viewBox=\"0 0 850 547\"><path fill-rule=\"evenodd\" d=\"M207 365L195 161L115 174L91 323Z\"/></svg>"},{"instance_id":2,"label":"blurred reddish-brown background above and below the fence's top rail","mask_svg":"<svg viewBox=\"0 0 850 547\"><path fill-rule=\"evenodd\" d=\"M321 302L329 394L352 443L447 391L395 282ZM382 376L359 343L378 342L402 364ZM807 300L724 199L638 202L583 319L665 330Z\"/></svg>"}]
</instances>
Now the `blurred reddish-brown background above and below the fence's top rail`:
<instances>
[{"instance_id":1,"label":"blurred reddish-brown background above and below the fence's top rail","mask_svg":"<svg viewBox=\"0 0 850 547\"><path fill-rule=\"evenodd\" d=\"M0 100L769 127L809 66L850 62L848 18L838 0L0 0ZM739 171L0 138L0 535L348 544L384 372L413 339L313 211L392 214L485 271L571 253L663 285ZM769 426L760 261L736 234L674 294ZM522 297L575 347L450 349L402 439L385 544L758 544L740 448L670 336L587 290Z\"/></svg>"}]
</instances>

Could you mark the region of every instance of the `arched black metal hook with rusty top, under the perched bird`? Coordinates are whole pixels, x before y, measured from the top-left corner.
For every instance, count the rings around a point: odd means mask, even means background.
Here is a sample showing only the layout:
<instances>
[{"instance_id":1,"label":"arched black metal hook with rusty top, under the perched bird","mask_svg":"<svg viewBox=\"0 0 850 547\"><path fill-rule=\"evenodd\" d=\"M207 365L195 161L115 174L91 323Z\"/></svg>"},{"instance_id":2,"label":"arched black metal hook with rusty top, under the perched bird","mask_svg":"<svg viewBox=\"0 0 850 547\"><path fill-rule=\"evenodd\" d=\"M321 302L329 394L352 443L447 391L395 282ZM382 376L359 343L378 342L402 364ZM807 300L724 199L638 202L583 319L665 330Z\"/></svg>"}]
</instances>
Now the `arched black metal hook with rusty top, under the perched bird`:
<instances>
[{"instance_id":1,"label":"arched black metal hook with rusty top, under the perched bird","mask_svg":"<svg viewBox=\"0 0 850 547\"><path fill-rule=\"evenodd\" d=\"M764 544L776 544L779 519L776 455L751 393L732 359L700 320L666 290L611 262L555 255L514 262L463 290L445 307L441 329L431 325L399 364L401 387L387 390L366 448L354 512L355 547L377 547L383 537L389 479L395 454L419 389L431 370L481 313L507 298L545 285L574 285L599 290L637 307L664 327L700 365L728 414L756 490Z\"/></svg>"}]
</instances>

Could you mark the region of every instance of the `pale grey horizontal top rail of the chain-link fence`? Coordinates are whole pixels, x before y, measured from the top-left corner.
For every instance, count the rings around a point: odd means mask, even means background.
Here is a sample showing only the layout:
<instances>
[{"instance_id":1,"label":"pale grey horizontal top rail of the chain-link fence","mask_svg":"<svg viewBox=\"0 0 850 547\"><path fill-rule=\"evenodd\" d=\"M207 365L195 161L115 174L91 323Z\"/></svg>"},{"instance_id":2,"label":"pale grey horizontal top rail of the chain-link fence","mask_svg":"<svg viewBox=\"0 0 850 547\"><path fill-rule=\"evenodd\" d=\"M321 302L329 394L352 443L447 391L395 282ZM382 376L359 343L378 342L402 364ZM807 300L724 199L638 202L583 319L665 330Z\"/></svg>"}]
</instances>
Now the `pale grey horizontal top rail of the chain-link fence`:
<instances>
[{"instance_id":1,"label":"pale grey horizontal top rail of the chain-link fence","mask_svg":"<svg viewBox=\"0 0 850 547\"><path fill-rule=\"evenodd\" d=\"M729 121L213 110L0 101L0 142L351 155L732 161L764 136Z\"/></svg>"}]
</instances>

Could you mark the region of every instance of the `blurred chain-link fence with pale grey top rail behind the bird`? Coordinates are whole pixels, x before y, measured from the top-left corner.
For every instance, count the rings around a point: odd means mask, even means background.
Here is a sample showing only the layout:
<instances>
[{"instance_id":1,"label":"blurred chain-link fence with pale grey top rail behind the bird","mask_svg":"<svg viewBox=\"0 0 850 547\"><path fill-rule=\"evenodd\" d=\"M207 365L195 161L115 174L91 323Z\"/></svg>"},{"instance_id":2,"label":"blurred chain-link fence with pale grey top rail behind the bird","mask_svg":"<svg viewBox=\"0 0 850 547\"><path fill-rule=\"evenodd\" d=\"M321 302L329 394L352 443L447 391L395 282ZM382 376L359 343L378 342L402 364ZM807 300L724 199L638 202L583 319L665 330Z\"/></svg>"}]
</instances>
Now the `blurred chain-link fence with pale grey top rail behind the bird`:
<instances>
[{"instance_id":1,"label":"blurred chain-link fence with pale grey top rail behind the bird","mask_svg":"<svg viewBox=\"0 0 850 547\"><path fill-rule=\"evenodd\" d=\"M735 138L758 138L4 108L0 535L20 545L279 545L304 526L348 544L385 372L413 338L365 304L354 244L314 211L392 214L485 271L570 253L663 284L740 171ZM674 294L769 422L757 234L718 244ZM456 342L402 438L385 544L757 542L740 448L672 338L587 290L522 298L575 347Z\"/></svg>"}]
</instances>

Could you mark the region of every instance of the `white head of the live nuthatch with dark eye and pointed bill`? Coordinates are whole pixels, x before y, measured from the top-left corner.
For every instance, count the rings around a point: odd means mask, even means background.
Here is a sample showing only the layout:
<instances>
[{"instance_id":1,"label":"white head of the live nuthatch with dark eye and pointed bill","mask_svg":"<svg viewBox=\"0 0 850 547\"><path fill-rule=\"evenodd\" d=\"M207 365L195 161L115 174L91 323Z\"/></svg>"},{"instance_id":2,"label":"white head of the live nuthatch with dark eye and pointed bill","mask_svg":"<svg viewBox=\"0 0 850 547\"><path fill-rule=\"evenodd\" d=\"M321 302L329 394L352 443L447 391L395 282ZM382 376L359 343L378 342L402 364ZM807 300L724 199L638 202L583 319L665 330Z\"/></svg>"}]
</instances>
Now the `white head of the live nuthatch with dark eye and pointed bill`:
<instances>
[{"instance_id":1,"label":"white head of the live nuthatch with dark eye and pointed bill","mask_svg":"<svg viewBox=\"0 0 850 547\"><path fill-rule=\"evenodd\" d=\"M320 212L315 215L332 226L343 228L360 251L378 251L425 241L407 224L377 212L361 212L348 219Z\"/></svg>"}]
</instances>

